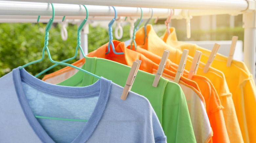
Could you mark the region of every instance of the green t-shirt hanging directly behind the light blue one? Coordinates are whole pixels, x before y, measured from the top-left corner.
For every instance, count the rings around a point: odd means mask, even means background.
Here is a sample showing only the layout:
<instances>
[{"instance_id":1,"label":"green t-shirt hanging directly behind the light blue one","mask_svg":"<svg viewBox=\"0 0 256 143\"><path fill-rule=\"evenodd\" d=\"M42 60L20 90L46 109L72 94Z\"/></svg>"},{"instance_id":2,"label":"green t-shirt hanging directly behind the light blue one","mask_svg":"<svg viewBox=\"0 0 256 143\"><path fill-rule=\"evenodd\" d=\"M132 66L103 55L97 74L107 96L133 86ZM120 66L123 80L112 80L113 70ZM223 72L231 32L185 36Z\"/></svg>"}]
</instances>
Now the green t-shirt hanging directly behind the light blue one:
<instances>
[{"instance_id":1,"label":"green t-shirt hanging directly behind the light blue one","mask_svg":"<svg viewBox=\"0 0 256 143\"><path fill-rule=\"evenodd\" d=\"M85 61L86 64L82 66L82 69L112 80L114 83L124 87L131 67L96 57L86 57ZM139 70L131 91L149 100L159 118L168 142L196 142L186 99L181 87L162 77L158 86L153 87L154 78L154 74ZM75 75L58 85L89 86L97 80L97 78L89 74L78 71Z\"/></svg>"}]
</instances>

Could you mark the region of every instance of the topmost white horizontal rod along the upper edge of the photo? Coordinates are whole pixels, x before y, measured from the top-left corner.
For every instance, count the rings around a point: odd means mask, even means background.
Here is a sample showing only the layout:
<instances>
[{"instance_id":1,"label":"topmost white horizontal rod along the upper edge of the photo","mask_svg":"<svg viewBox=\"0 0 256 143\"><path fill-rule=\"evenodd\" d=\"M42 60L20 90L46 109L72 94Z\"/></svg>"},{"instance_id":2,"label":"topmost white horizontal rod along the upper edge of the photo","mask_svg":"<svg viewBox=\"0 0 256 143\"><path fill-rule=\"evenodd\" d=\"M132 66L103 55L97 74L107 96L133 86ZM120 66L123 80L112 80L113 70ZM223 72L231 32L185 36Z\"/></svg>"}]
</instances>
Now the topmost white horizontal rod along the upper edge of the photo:
<instances>
[{"instance_id":1,"label":"topmost white horizontal rod along the upper edge of the photo","mask_svg":"<svg viewBox=\"0 0 256 143\"><path fill-rule=\"evenodd\" d=\"M17 0L24 1L24 0ZM246 0L26 0L30 2L141 8L246 10Z\"/></svg>"}]
</instances>

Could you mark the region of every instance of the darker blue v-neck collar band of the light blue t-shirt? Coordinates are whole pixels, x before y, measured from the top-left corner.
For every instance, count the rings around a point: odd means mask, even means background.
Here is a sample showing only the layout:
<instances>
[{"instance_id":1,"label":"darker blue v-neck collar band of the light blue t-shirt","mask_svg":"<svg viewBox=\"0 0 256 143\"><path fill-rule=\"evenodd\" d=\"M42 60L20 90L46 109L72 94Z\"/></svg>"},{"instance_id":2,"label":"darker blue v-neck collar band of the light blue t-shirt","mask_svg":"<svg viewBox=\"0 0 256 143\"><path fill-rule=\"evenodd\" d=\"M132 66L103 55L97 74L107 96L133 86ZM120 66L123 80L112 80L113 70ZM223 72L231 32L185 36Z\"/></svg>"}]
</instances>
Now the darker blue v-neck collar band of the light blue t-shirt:
<instances>
[{"instance_id":1,"label":"darker blue v-neck collar band of the light blue t-shirt","mask_svg":"<svg viewBox=\"0 0 256 143\"><path fill-rule=\"evenodd\" d=\"M22 81L26 82L30 86L45 92L50 93L51 95L66 97L66 98L78 98L78 97L90 97L91 93L99 91L99 98L94 108L94 111L91 117L88 119L86 125L82 131L77 135L77 137L72 141L75 142L86 142L90 136L93 134L98 122L100 121L108 99L110 95L110 88L112 81L107 80L101 77L96 83L86 86L86 87L66 87L58 86L46 83L40 79L35 78L33 75L28 73L24 68L23 69L13 69L13 82L15 90L18 96L19 103L22 107L23 113L25 114L27 121L32 127L35 134L39 139L44 143L55 143L53 139L46 133L40 123L37 121L33 115L32 109L28 103L27 97L25 95Z\"/></svg>"}]
</instances>

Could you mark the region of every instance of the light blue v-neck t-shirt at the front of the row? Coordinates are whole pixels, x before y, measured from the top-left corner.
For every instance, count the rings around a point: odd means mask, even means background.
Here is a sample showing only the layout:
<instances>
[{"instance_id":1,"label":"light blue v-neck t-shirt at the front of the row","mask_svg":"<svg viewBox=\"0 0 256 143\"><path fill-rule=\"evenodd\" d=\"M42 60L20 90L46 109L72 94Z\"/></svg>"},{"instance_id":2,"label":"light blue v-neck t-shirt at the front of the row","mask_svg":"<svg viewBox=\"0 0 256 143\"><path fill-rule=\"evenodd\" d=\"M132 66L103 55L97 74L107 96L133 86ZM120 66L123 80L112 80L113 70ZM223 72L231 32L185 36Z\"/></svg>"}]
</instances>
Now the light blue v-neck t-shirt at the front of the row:
<instances>
[{"instance_id":1,"label":"light blue v-neck t-shirt at the front of the row","mask_svg":"<svg viewBox=\"0 0 256 143\"><path fill-rule=\"evenodd\" d=\"M66 87L41 81L25 69L13 69L0 78L0 142L165 143L149 101L131 91L123 101L122 90L103 77L87 87Z\"/></svg>"}]
</instances>

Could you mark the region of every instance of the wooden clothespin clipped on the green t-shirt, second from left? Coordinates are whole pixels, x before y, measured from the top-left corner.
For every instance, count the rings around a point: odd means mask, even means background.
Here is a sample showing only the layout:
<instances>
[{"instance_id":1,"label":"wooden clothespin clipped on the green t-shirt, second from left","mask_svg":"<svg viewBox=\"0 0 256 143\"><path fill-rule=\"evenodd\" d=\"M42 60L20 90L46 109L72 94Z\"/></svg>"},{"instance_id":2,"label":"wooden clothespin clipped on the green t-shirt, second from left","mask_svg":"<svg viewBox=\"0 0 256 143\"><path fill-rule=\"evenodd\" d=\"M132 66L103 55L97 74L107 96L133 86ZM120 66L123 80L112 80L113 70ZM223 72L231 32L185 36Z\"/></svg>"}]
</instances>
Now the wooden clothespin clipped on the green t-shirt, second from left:
<instances>
[{"instance_id":1,"label":"wooden clothespin clipped on the green t-shirt, second from left","mask_svg":"<svg viewBox=\"0 0 256 143\"><path fill-rule=\"evenodd\" d=\"M170 54L170 51L168 51L168 50L163 51L163 56L162 56L161 61L159 63L159 67L157 69L157 73L156 73L156 76L155 76L155 79L154 79L154 82L153 82L153 85L152 85L153 87L157 87L157 85L158 85L158 82L159 82L160 77L163 73L163 69L165 67L165 64L166 64L166 61L168 59L169 54Z\"/></svg>"}]
</instances>

